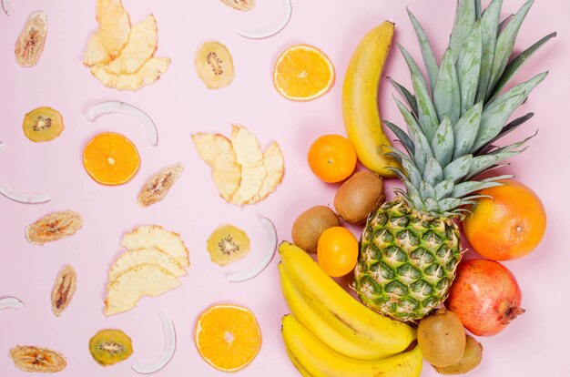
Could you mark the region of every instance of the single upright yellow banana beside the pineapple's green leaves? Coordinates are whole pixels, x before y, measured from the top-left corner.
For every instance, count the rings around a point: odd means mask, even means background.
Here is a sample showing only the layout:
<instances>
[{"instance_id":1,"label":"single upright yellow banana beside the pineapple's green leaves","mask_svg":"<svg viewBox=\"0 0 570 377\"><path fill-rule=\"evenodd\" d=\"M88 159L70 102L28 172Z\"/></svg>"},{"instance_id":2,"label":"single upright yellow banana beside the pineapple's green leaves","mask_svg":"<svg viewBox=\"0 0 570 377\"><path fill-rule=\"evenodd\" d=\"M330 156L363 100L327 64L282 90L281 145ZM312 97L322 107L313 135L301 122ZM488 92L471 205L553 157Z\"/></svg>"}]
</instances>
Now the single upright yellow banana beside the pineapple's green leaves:
<instances>
[{"instance_id":1,"label":"single upright yellow banana beside the pineapple's green leaves","mask_svg":"<svg viewBox=\"0 0 570 377\"><path fill-rule=\"evenodd\" d=\"M400 164L384 153L390 140L382 131L378 85L392 45L394 24L384 21L361 39L346 69L342 87L342 117L346 134L362 165L382 177L395 177L387 167Z\"/></svg>"}]
</instances>

